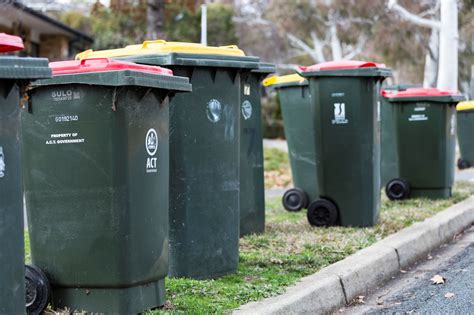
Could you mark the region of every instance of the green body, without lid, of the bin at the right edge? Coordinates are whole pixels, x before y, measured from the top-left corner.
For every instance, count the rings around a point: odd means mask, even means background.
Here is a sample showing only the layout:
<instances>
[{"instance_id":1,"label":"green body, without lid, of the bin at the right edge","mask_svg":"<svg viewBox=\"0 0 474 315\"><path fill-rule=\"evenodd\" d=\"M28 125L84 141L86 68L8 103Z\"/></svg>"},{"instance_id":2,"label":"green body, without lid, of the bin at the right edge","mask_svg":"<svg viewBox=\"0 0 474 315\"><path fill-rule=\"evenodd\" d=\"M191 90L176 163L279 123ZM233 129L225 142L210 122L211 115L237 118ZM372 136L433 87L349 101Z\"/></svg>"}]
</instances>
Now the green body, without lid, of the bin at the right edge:
<instances>
[{"instance_id":1,"label":"green body, without lid, of the bin at the right edge","mask_svg":"<svg viewBox=\"0 0 474 315\"><path fill-rule=\"evenodd\" d=\"M474 105L474 102L472 102ZM461 160L474 166L474 108L458 110L458 142Z\"/></svg>"}]
</instances>

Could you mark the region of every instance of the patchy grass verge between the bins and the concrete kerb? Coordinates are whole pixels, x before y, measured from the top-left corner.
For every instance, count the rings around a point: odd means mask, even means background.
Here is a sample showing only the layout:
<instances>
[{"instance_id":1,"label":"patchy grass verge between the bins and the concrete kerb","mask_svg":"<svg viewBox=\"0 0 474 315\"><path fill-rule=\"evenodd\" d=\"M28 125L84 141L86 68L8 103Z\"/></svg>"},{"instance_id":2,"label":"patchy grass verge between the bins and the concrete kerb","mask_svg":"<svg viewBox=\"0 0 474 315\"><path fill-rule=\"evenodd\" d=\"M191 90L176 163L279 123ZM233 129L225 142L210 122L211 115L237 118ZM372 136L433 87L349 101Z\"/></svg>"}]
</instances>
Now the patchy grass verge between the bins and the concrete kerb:
<instances>
[{"instance_id":1,"label":"patchy grass verge between the bins and the concrete kerb","mask_svg":"<svg viewBox=\"0 0 474 315\"><path fill-rule=\"evenodd\" d=\"M244 237L236 274L215 280L167 279L168 305L161 313L225 313L250 301L284 292L299 278L317 272L412 223L422 221L474 194L474 183L458 182L453 197L390 202L382 198L380 223L370 228L313 228L305 212L267 201L266 233ZM27 247L27 257L29 248Z\"/></svg>"}]
</instances>

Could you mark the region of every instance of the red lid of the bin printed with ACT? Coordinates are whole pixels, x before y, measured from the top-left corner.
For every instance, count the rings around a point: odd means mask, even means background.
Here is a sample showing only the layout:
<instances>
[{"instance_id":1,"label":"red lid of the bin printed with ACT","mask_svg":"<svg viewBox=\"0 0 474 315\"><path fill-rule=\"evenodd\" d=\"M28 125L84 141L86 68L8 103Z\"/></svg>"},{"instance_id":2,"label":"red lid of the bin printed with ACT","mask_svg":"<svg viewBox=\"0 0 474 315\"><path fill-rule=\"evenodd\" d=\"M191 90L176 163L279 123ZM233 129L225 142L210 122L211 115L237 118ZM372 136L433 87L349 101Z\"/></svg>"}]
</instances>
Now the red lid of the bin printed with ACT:
<instances>
[{"instance_id":1,"label":"red lid of the bin printed with ACT","mask_svg":"<svg viewBox=\"0 0 474 315\"><path fill-rule=\"evenodd\" d=\"M170 69L165 69L158 66L141 65L130 61L111 60L109 58L57 61L51 62L49 67L53 71L53 75L120 70L133 70L152 74L173 75L173 71Z\"/></svg>"}]
</instances>

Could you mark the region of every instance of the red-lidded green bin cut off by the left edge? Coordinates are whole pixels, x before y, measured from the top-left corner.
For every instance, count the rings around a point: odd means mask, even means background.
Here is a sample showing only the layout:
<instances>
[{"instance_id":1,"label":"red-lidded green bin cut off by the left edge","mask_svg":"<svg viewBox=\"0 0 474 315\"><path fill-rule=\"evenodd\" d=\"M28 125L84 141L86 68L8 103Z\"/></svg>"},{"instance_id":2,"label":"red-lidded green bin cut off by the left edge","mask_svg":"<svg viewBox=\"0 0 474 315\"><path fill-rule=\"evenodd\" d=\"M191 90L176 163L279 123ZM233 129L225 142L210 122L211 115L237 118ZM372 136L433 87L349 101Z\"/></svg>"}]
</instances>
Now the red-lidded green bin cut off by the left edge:
<instances>
[{"instance_id":1,"label":"red-lidded green bin cut off by the left edge","mask_svg":"<svg viewBox=\"0 0 474 315\"><path fill-rule=\"evenodd\" d=\"M0 53L21 49L20 37L0 33ZM20 106L30 81L50 76L47 59L0 57L0 314L25 313Z\"/></svg>"}]
</instances>

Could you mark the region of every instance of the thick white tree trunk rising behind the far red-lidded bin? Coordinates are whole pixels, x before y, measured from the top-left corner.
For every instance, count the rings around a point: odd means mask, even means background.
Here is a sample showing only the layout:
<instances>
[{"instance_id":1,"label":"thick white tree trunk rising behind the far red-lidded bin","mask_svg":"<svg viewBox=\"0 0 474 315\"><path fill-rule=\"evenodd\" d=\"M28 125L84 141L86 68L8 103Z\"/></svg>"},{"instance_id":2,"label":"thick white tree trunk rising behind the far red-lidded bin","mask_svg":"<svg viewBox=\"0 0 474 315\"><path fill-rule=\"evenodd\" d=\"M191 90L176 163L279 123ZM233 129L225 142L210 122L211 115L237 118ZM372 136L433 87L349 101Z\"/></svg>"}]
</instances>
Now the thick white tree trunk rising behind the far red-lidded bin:
<instances>
[{"instance_id":1,"label":"thick white tree trunk rising behind the far red-lidded bin","mask_svg":"<svg viewBox=\"0 0 474 315\"><path fill-rule=\"evenodd\" d=\"M458 5L456 0L441 0L438 84L442 90L458 90Z\"/></svg>"}]
</instances>

